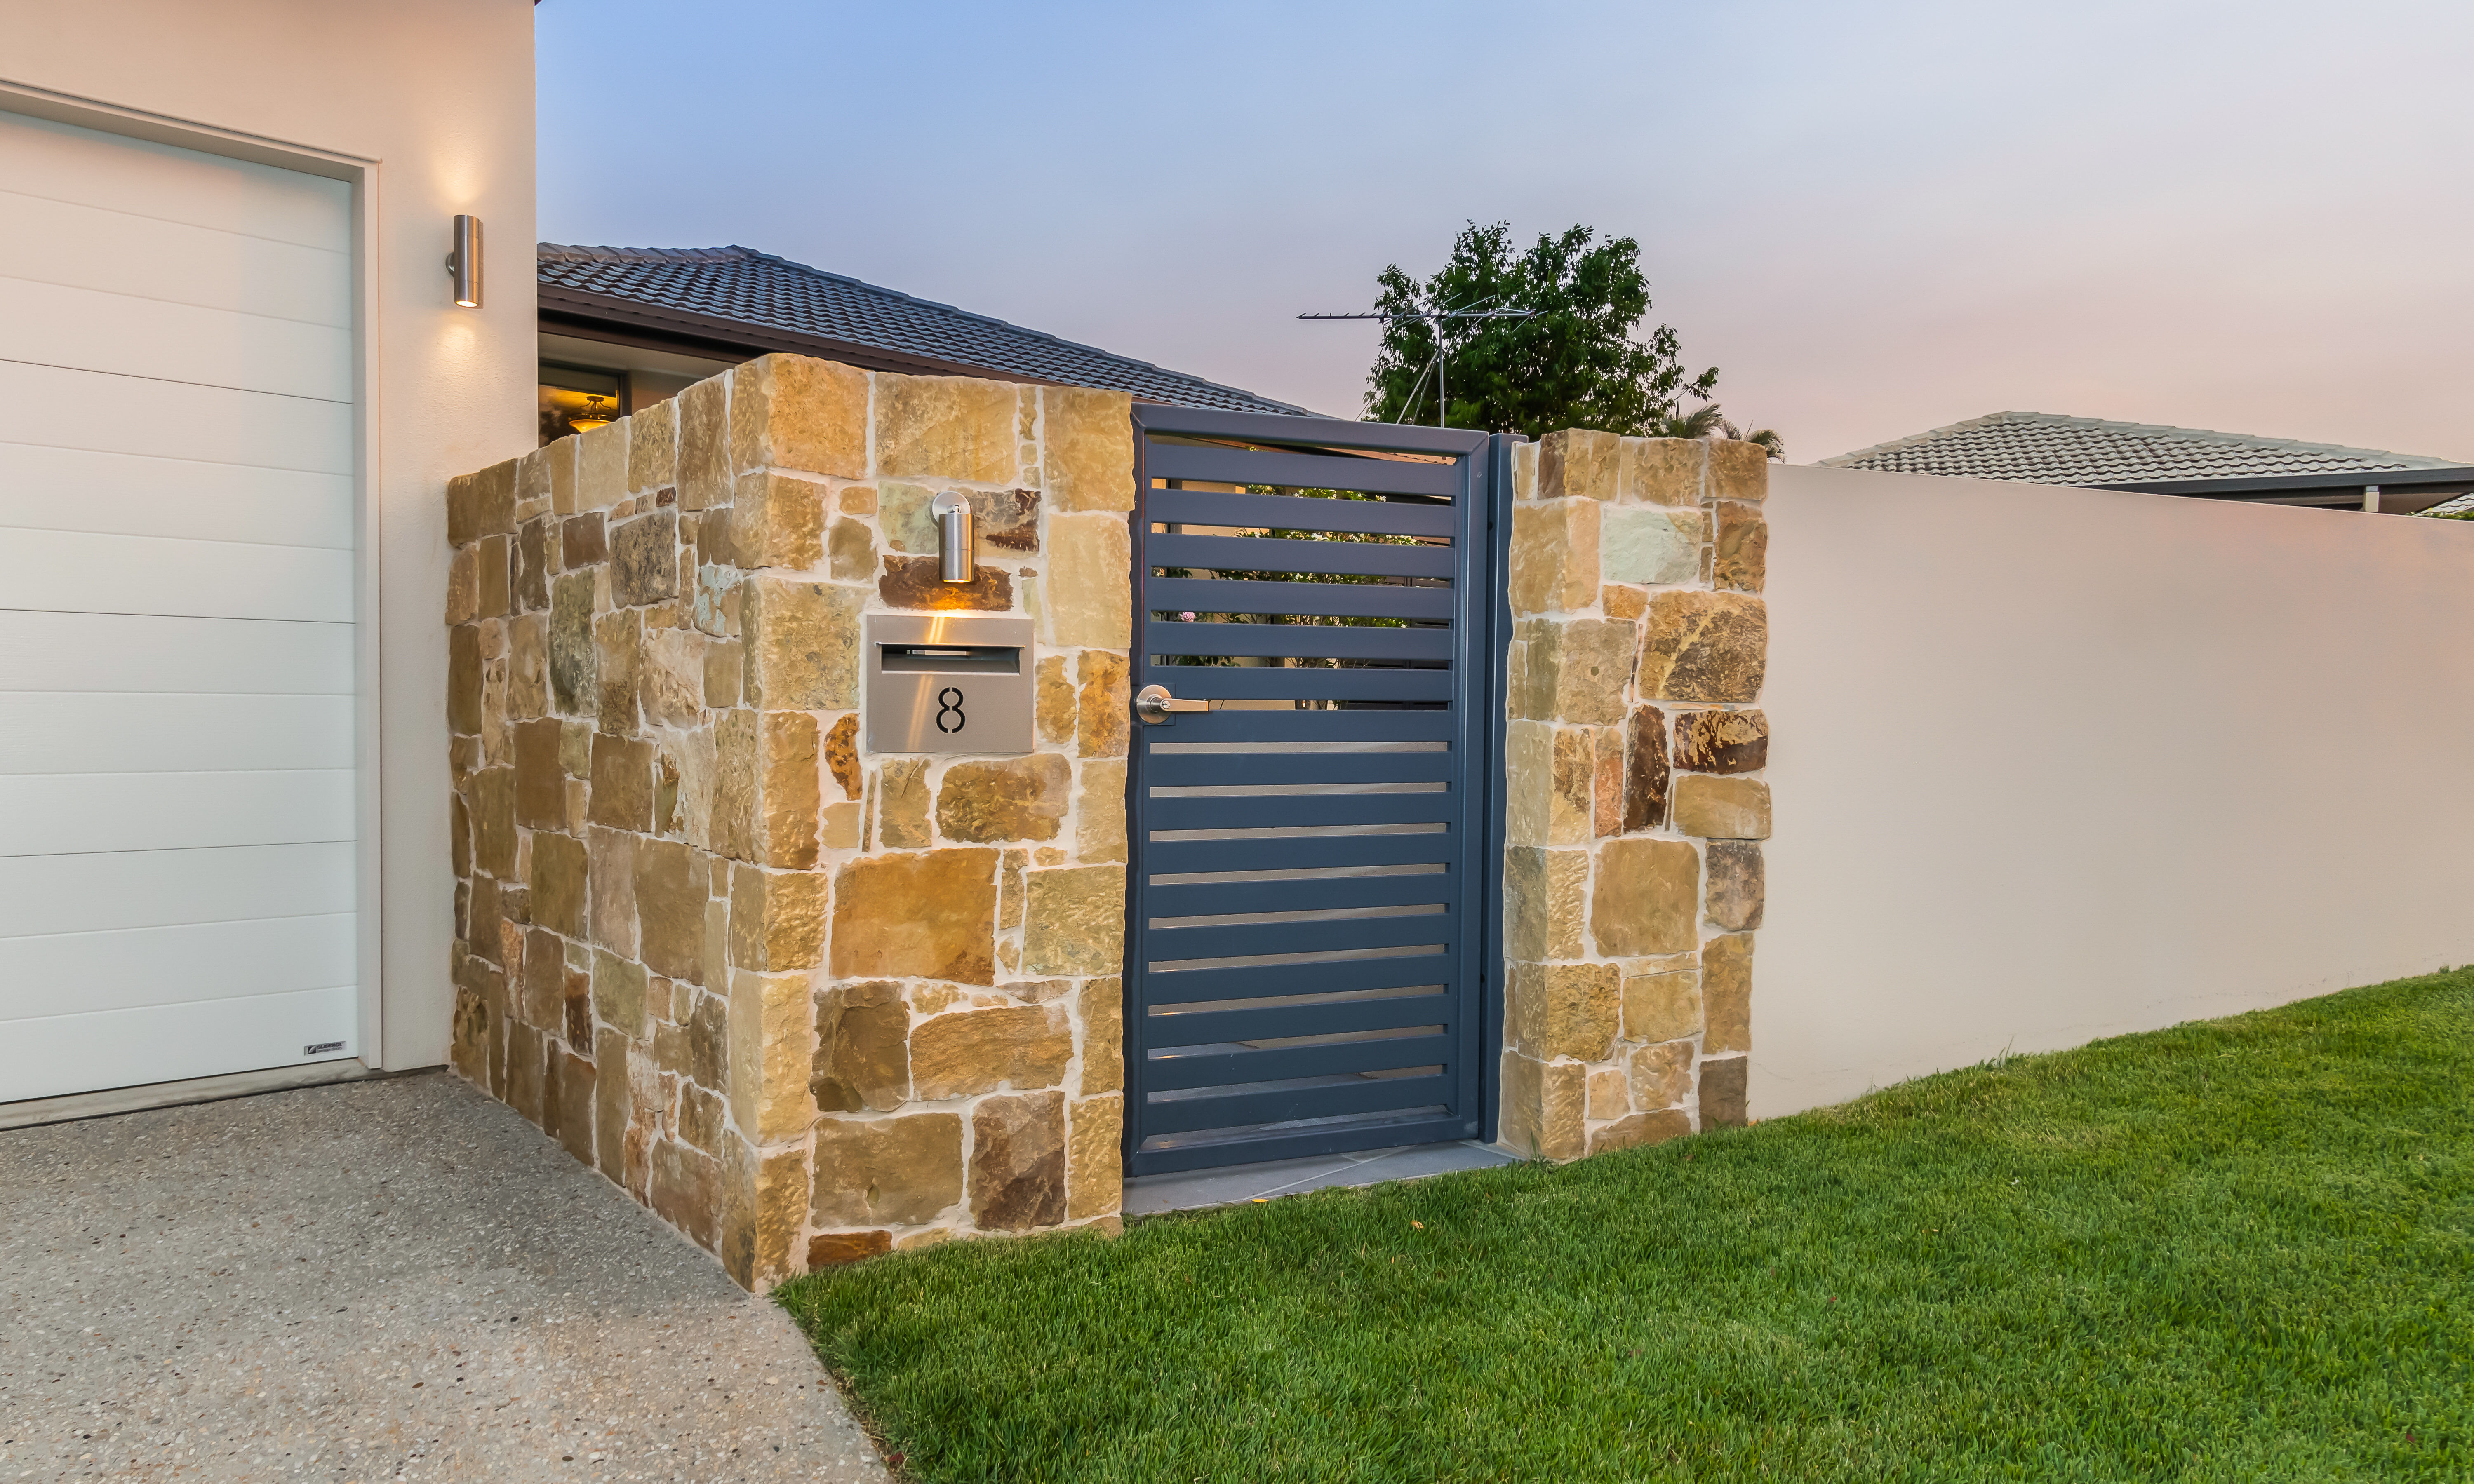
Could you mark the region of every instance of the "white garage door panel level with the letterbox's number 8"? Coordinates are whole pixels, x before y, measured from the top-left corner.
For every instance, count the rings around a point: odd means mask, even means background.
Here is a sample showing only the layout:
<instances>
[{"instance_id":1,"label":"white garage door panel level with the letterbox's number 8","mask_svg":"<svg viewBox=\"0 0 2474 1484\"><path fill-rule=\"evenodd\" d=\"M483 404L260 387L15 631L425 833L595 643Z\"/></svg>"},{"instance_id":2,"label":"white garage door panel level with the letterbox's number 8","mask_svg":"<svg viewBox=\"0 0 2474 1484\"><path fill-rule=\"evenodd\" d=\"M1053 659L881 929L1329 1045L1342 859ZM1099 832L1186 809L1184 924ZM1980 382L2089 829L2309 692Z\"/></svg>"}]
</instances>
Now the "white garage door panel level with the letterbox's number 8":
<instances>
[{"instance_id":1,"label":"white garage door panel level with the letterbox's number 8","mask_svg":"<svg viewBox=\"0 0 2474 1484\"><path fill-rule=\"evenodd\" d=\"M0 693L0 774L349 769L349 695Z\"/></svg>"}]
</instances>

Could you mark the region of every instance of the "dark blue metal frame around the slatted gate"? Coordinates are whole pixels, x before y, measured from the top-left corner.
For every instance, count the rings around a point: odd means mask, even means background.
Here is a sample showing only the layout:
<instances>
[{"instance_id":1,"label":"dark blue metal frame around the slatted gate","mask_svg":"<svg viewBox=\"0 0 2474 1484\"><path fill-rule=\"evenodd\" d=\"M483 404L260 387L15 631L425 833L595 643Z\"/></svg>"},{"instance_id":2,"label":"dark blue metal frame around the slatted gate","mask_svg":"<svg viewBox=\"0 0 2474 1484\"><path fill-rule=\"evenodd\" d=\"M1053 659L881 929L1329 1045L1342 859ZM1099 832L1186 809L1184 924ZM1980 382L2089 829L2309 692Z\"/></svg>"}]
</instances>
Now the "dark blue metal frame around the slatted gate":
<instances>
[{"instance_id":1,"label":"dark blue metal frame around the slatted gate","mask_svg":"<svg viewBox=\"0 0 2474 1484\"><path fill-rule=\"evenodd\" d=\"M1423 428L1410 423L1351 423L1341 418L1296 418L1286 413L1227 413L1217 408L1185 408L1170 403L1133 403L1133 510L1126 514L1128 529L1128 603L1133 650L1128 673L1143 665L1143 579L1148 576L1145 539L1150 534L1150 458L1148 433L1232 438L1244 443L1291 445L1296 450L1380 450L1380 453L1440 453L1467 458L1472 497L1482 510L1472 512L1472 529L1484 542L1482 561L1484 596L1472 601L1467 633L1460 636L1457 663L1462 675L1475 675L1460 688L1462 705L1484 705L1487 717L1467 732L1482 742L1484 757L1462 757L1455 784L1472 799L1472 829L1479 834L1479 881L1467 888L1465 910L1475 923L1465 925L1470 962L1477 972L1477 1068L1475 1068L1475 1138L1497 1143L1502 1118L1502 1064L1504 1064L1504 717L1509 710L1509 646L1512 646L1512 448L1524 443L1517 433L1479 433L1475 428ZM1380 435L1371 435L1380 428ZM1455 591L1460 584L1455 584ZM1126 1177L1133 1175L1133 1158L1143 1143L1141 1133L1141 1026L1143 1004L1138 994L1138 965L1143 957L1143 853L1141 829L1143 799L1143 747L1141 735L1126 747L1126 957L1123 957L1123 1066L1126 1066L1126 1115L1118 1158ZM1430 1140L1455 1143L1455 1140ZM1314 1155L1282 1155L1314 1158ZM1230 1170L1239 1165L1205 1165Z\"/></svg>"}]
</instances>

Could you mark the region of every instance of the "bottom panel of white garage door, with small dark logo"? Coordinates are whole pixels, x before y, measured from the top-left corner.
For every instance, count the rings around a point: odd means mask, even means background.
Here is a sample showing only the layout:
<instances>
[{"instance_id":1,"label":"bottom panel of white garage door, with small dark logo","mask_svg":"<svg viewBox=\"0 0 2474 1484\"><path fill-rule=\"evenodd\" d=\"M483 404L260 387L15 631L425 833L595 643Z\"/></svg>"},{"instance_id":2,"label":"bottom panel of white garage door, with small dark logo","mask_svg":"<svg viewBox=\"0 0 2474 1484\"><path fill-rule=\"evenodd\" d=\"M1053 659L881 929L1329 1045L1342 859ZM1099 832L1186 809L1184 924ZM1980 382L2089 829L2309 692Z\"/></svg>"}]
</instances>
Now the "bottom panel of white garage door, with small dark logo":
<instances>
[{"instance_id":1,"label":"bottom panel of white garage door, with small dark logo","mask_svg":"<svg viewBox=\"0 0 2474 1484\"><path fill-rule=\"evenodd\" d=\"M361 1051L356 1026L359 992L349 987L59 1014L5 1026L0 1088L10 1098L57 1098L341 1061Z\"/></svg>"}]
</instances>

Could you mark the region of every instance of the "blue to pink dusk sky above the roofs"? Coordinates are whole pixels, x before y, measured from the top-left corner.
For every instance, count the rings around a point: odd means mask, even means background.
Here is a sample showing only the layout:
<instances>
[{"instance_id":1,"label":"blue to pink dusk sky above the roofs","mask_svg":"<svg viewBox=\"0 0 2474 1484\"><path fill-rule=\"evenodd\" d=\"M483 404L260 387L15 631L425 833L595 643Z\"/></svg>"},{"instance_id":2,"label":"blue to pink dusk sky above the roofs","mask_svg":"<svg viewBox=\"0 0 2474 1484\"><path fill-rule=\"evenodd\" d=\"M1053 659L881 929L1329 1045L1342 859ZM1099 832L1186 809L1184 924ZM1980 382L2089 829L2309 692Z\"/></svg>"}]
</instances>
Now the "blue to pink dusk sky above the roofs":
<instances>
[{"instance_id":1,"label":"blue to pink dusk sky above the roofs","mask_svg":"<svg viewBox=\"0 0 2474 1484\"><path fill-rule=\"evenodd\" d=\"M2474 463L2467 0L547 0L539 232L1358 416L1376 275L1640 242L1818 460L1994 411Z\"/></svg>"}]
</instances>

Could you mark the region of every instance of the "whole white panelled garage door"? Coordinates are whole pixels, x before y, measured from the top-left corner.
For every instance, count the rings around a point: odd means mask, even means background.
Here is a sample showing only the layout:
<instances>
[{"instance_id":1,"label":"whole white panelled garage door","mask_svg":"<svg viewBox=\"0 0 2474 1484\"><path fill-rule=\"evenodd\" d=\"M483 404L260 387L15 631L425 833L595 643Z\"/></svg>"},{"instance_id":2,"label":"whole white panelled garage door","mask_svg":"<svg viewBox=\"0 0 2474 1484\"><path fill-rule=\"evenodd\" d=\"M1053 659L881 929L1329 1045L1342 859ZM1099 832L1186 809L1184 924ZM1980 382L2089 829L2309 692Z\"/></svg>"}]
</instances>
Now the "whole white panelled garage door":
<instances>
[{"instance_id":1,"label":"whole white panelled garage door","mask_svg":"<svg viewBox=\"0 0 2474 1484\"><path fill-rule=\"evenodd\" d=\"M0 114L0 1101L359 1051L351 193Z\"/></svg>"}]
</instances>

